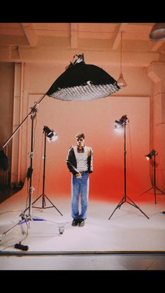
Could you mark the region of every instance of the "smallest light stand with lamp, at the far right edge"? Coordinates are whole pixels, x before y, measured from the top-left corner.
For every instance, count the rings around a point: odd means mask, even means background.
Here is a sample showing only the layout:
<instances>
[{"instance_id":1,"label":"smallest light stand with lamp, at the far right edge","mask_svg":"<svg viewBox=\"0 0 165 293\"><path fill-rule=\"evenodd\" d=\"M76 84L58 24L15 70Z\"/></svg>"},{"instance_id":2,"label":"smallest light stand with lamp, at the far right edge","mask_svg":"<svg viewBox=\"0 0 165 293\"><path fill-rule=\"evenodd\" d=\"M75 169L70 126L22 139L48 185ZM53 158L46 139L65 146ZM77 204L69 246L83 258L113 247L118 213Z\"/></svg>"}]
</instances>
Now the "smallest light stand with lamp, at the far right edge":
<instances>
[{"instance_id":1,"label":"smallest light stand with lamp, at the far right edge","mask_svg":"<svg viewBox=\"0 0 165 293\"><path fill-rule=\"evenodd\" d=\"M158 155L158 152L155 152L155 150L152 150L150 154L146 155L146 159L150 160L152 157L154 157L153 165L154 165L154 178L153 178L153 187L150 187L149 190L145 190L142 194L139 196L148 193L150 190L154 190L154 196L155 196L155 204L157 204L157 194L165 194L162 190L160 190L156 185L156 155ZM157 193L156 190L159 190L161 193Z\"/></svg>"}]
</instances>

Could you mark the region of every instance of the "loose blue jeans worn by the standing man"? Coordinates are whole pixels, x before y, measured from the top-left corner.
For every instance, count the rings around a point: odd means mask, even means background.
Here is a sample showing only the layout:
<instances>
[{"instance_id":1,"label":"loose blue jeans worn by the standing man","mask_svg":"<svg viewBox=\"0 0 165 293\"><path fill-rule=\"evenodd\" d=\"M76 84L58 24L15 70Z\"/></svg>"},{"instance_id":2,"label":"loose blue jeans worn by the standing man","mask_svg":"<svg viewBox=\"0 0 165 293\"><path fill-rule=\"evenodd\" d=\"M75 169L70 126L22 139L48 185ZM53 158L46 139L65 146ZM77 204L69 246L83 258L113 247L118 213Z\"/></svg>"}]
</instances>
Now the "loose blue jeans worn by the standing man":
<instances>
[{"instance_id":1,"label":"loose blue jeans worn by the standing man","mask_svg":"<svg viewBox=\"0 0 165 293\"><path fill-rule=\"evenodd\" d=\"M81 210L79 213L79 196ZM82 178L71 177L71 215L73 219L87 219L87 203L89 195L89 173L83 173Z\"/></svg>"}]
</instances>

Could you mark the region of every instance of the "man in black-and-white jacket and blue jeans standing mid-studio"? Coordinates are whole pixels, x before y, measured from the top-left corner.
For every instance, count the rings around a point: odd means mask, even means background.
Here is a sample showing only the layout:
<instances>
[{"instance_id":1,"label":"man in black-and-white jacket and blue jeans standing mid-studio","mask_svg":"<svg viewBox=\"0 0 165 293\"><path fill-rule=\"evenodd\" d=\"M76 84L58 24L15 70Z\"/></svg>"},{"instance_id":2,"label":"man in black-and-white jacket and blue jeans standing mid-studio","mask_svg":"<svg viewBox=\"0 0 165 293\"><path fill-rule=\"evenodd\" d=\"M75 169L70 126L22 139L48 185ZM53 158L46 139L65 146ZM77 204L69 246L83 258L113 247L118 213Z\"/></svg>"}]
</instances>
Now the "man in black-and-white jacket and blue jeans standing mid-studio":
<instances>
[{"instance_id":1,"label":"man in black-and-white jacket and blue jeans standing mid-studio","mask_svg":"<svg viewBox=\"0 0 165 293\"><path fill-rule=\"evenodd\" d=\"M71 176L71 215L72 226L82 227L87 219L89 195L89 173L93 171L93 151L85 145L85 135L76 135L76 145L69 148L66 164ZM79 198L81 210L79 213Z\"/></svg>"}]
</instances>

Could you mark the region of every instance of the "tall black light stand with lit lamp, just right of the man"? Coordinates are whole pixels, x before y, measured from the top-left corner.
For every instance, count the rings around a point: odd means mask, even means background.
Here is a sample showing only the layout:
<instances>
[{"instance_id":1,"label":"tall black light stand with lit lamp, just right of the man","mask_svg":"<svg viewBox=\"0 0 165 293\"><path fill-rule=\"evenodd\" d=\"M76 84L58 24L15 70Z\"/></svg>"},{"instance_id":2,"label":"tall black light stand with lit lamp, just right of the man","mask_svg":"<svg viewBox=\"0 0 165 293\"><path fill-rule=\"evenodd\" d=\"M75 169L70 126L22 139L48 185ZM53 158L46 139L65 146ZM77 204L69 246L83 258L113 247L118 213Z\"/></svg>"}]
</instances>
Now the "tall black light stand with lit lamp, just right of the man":
<instances>
[{"instance_id":1,"label":"tall black light stand with lit lamp, just right of the man","mask_svg":"<svg viewBox=\"0 0 165 293\"><path fill-rule=\"evenodd\" d=\"M134 203L134 201L132 201L129 196L127 196L127 178L126 178L126 125L127 125L127 115L123 115L120 119L120 121L115 121L118 124L120 124L120 127L124 127L124 196L122 197L120 203L117 204L115 210L117 210L117 208L120 208L120 206L122 206L123 203L127 202L129 203L131 206L134 206L135 208L138 208L138 210L141 211L141 213L143 213L143 210L141 210L141 208L139 208L136 203ZM112 215L115 213L115 210L113 210L113 213L110 215L110 217L112 217ZM145 215L145 213L143 213L143 215ZM110 217L108 218L108 220L110 220ZM148 215L145 215L145 217L148 217Z\"/></svg>"}]
</instances>

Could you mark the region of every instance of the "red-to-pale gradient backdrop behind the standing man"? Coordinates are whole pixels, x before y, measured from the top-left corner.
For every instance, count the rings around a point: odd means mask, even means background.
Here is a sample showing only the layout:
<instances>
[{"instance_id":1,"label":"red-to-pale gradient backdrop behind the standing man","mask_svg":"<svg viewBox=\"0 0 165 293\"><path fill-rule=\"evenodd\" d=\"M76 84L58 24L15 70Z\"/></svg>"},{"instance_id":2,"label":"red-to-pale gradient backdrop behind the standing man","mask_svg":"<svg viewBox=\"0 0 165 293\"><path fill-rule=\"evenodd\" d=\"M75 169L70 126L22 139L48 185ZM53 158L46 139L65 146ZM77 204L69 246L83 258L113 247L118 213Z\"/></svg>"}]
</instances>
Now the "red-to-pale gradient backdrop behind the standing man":
<instances>
[{"instance_id":1,"label":"red-to-pale gradient backdrop behind the standing man","mask_svg":"<svg viewBox=\"0 0 165 293\"><path fill-rule=\"evenodd\" d=\"M29 95L29 108L41 96ZM70 196L71 173L66 155L82 131L85 144L94 151L94 172L90 175L90 199L119 201L124 196L124 133L114 131L114 121L126 114L127 195L143 200L138 194L151 187L149 164L145 154L150 141L150 99L148 97L107 97L94 101L59 101L45 97L38 105L34 120L34 197L43 187L43 126L59 136L46 142L45 194ZM42 143L43 141L43 143ZM31 148L31 119L28 120L28 150ZM27 155L27 168L30 164ZM146 196L145 196L146 197Z\"/></svg>"}]
</instances>

